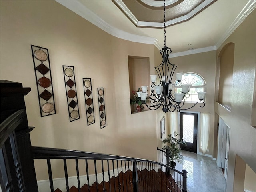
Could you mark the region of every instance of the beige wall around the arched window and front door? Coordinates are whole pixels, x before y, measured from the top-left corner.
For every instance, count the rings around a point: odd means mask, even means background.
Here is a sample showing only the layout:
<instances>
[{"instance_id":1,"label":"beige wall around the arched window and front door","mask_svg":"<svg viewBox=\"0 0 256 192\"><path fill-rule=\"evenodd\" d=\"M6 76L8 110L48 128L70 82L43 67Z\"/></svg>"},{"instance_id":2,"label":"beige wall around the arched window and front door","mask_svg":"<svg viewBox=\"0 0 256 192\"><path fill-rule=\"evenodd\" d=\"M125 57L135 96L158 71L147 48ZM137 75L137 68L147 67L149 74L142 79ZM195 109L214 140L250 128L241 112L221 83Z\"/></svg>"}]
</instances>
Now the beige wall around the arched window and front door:
<instances>
[{"instance_id":1,"label":"beige wall around the arched window and front door","mask_svg":"<svg viewBox=\"0 0 256 192\"><path fill-rule=\"evenodd\" d=\"M206 152L206 154L213 155L214 154L214 90L215 90L216 51L174 57L174 58L170 58L170 62L178 66L176 68L175 73L193 72L196 74L200 74L206 82L205 107L201 108L197 104L197 106L186 111L210 113L210 134L209 134L210 136L209 136L209 142L208 142L209 152ZM189 106L191 106L191 103L184 104L184 107L186 108L188 108ZM200 149L199 152L202 152L202 149Z\"/></svg>"}]
</instances>

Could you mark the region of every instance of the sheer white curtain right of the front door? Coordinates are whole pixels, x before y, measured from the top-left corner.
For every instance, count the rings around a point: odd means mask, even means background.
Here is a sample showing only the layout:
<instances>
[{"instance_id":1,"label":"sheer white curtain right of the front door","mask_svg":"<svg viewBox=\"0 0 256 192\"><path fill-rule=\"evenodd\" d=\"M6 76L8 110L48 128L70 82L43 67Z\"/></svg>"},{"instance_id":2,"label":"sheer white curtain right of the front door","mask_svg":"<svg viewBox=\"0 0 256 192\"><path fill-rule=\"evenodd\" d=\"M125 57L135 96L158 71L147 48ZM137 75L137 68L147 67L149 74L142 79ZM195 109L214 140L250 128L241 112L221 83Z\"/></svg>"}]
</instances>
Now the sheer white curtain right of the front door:
<instances>
[{"instance_id":1,"label":"sheer white curtain right of the front door","mask_svg":"<svg viewBox=\"0 0 256 192\"><path fill-rule=\"evenodd\" d=\"M201 146L203 150L203 154L205 154L208 141L209 141L209 130L210 130L210 114L209 113L201 113L201 124L200 124L200 133L201 133Z\"/></svg>"}]
</instances>

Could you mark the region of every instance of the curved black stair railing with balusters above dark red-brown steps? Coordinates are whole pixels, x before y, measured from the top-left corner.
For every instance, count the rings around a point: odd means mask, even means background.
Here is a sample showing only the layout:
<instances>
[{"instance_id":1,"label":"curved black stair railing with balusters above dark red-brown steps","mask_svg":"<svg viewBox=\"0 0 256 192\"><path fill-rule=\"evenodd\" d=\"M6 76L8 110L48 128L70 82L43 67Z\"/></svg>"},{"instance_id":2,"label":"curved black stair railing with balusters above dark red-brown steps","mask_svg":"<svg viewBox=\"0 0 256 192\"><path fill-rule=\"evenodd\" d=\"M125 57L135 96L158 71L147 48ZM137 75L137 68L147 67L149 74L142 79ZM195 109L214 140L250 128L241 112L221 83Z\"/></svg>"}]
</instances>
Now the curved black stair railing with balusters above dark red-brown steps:
<instances>
[{"instance_id":1,"label":"curved black stair railing with balusters above dark red-brown steps","mask_svg":"<svg viewBox=\"0 0 256 192\"><path fill-rule=\"evenodd\" d=\"M151 160L32 146L34 159L45 159L48 165L50 191L54 192L51 160L63 161L67 192L74 182L68 177L67 160L76 163L78 192L186 192L186 172L180 172ZM80 171L78 160L85 160L86 171ZM83 163L84 165L84 163ZM171 174L166 174L170 170ZM70 182L70 183L69 183ZM82 187L81 187L82 186ZM40 189L39 189L40 190Z\"/></svg>"}]
</instances>

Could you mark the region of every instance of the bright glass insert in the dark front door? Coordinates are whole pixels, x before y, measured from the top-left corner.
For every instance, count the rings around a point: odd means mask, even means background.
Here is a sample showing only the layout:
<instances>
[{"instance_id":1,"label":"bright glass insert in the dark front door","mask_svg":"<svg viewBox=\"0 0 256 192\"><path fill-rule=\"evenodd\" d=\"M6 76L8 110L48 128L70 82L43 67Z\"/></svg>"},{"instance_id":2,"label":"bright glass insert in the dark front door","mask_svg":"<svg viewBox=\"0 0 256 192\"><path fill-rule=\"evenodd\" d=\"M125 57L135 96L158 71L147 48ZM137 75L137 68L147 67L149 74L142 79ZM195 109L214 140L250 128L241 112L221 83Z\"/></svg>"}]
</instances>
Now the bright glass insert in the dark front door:
<instances>
[{"instance_id":1,"label":"bright glass insert in the dark front door","mask_svg":"<svg viewBox=\"0 0 256 192\"><path fill-rule=\"evenodd\" d=\"M183 115L183 139L186 142L193 143L194 138L194 116Z\"/></svg>"}]
</instances>

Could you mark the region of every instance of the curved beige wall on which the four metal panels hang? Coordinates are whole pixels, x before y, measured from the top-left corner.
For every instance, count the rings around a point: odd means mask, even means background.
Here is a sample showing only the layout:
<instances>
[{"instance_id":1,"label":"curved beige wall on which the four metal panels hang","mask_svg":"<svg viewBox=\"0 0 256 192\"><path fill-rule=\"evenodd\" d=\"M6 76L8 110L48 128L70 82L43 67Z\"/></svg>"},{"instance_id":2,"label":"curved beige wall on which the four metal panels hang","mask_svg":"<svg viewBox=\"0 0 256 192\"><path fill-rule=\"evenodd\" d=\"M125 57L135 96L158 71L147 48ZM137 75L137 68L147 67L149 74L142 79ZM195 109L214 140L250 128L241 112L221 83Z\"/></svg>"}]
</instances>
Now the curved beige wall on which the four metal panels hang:
<instances>
[{"instance_id":1,"label":"curved beige wall on which the four metal panels hang","mask_svg":"<svg viewBox=\"0 0 256 192\"><path fill-rule=\"evenodd\" d=\"M55 1L0 1L1 79L21 82L33 146L66 148L156 160L156 115L130 112L128 55L148 57L154 45L115 38ZM30 44L49 49L57 114L40 117ZM74 66L80 119L69 122L62 65ZM86 123L82 78L92 78L96 122ZM104 87L107 126L100 129L97 87ZM70 163L71 166L72 163ZM37 179L47 179L36 161ZM63 167L57 161L52 168ZM57 169L56 169L57 170ZM63 177L54 170L54 178ZM75 168L68 176L75 175Z\"/></svg>"}]
</instances>

